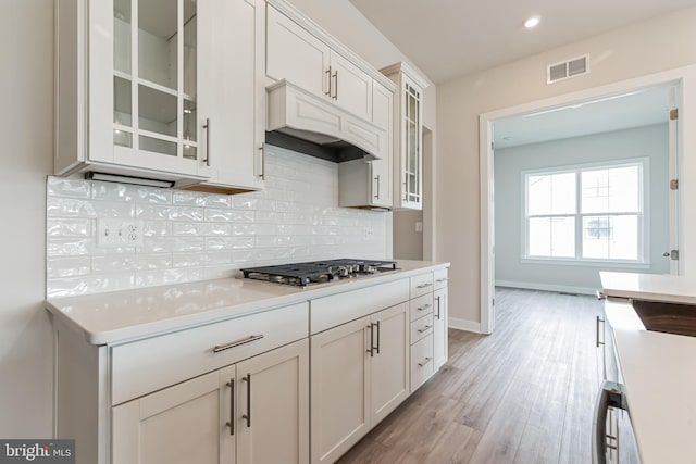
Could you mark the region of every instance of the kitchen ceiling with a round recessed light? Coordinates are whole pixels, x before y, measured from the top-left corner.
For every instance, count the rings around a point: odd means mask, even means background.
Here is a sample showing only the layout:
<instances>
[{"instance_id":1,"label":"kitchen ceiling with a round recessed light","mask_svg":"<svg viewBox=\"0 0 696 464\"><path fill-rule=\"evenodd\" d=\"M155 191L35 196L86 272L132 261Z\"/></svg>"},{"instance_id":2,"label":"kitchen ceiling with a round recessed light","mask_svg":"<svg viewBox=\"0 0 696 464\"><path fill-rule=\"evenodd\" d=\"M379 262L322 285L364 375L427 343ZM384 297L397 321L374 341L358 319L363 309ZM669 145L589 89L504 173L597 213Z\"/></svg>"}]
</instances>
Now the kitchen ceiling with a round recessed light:
<instances>
[{"instance_id":1,"label":"kitchen ceiling with a round recessed light","mask_svg":"<svg viewBox=\"0 0 696 464\"><path fill-rule=\"evenodd\" d=\"M696 0L349 0L435 84L617 27ZM538 15L527 30L522 23Z\"/></svg>"}]
</instances>

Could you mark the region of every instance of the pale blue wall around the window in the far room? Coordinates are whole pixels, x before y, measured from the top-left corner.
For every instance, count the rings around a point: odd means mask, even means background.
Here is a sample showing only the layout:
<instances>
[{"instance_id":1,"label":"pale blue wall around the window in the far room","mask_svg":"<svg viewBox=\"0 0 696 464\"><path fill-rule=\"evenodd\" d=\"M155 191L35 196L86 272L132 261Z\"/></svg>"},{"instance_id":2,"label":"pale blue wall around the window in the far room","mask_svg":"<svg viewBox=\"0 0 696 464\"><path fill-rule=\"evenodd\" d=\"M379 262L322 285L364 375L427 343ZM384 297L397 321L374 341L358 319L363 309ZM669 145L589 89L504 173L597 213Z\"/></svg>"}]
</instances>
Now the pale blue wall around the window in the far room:
<instances>
[{"instance_id":1,"label":"pale blue wall around the window in the far room","mask_svg":"<svg viewBox=\"0 0 696 464\"><path fill-rule=\"evenodd\" d=\"M666 115L667 118L667 115ZM514 287L559 289L594 293L600 287L599 271L669 274L669 128L667 124L596 134L496 150L495 242L496 283ZM522 261L522 172L631 158L649 158L649 268L602 267L531 263Z\"/></svg>"}]
</instances>

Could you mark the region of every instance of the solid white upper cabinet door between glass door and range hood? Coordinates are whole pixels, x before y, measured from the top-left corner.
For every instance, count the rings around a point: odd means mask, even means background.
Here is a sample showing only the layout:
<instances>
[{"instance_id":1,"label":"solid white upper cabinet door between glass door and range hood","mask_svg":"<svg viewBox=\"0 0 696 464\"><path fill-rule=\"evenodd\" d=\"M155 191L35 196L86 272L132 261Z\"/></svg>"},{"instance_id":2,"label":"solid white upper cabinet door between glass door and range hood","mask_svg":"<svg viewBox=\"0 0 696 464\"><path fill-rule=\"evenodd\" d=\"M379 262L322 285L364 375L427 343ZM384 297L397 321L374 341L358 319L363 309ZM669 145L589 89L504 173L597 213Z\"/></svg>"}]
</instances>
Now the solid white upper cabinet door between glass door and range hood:
<instances>
[{"instance_id":1,"label":"solid white upper cabinet door between glass door and range hood","mask_svg":"<svg viewBox=\"0 0 696 464\"><path fill-rule=\"evenodd\" d=\"M187 0L189 1L189 0ZM199 111L203 130L196 190L262 189L265 137L264 2L198 2Z\"/></svg>"}]
</instances>

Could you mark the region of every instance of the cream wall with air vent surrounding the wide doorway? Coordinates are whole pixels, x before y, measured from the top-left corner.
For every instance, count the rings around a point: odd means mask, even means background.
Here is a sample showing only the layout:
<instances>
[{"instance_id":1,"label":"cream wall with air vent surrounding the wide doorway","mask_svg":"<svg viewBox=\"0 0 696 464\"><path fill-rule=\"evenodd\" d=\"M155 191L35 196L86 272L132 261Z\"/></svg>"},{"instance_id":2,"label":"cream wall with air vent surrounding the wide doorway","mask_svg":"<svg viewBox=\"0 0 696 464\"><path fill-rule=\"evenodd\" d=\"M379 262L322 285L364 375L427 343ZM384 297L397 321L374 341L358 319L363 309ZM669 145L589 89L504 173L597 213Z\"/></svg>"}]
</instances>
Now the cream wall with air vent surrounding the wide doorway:
<instances>
[{"instance_id":1,"label":"cream wall with air vent surrounding the wide doorway","mask_svg":"<svg viewBox=\"0 0 696 464\"><path fill-rule=\"evenodd\" d=\"M696 8L438 85L435 241L436 259L452 263L450 321L462 325L480 322L478 115L694 64L694 24ZM584 53L591 54L591 74L546 84L548 63ZM693 95L685 92L684 98L696 106ZM684 113L682 123L686 125L687 111ZM683 137L685 149L695 143L691 133ZM686 164L682 168L691 172ZM688 198L686 191L682 195ZM682 220L691 227L687 230L696 234L696 221Z\"/></svg>"}]
</instances>

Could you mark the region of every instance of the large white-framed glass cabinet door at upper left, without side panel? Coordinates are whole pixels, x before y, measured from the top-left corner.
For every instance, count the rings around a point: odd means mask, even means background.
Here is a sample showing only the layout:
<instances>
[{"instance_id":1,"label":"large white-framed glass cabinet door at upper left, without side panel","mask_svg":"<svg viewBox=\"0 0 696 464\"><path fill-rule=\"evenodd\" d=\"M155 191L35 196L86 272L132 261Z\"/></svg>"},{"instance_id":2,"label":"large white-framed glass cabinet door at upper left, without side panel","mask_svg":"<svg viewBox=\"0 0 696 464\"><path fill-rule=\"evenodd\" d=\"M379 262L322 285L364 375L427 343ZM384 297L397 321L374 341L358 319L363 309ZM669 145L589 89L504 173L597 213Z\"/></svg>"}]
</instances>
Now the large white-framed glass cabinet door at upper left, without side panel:
<instances>
[{"instance_id":1,"label":"large white-framed glass cabinet door at upper left, without side panel","mask_svg":"<svg viewBox=\"0 0 696 464\"><path fill-rule=\"evenodd\" d=\"M113 0L115 163L196 174L196 0Z\"/></svg>"}]
</instances>

